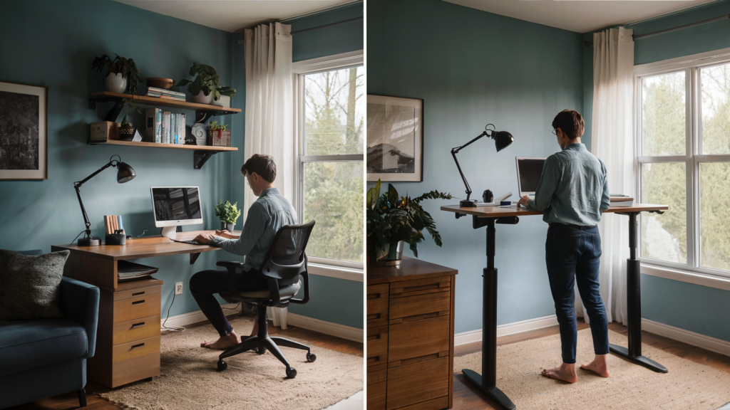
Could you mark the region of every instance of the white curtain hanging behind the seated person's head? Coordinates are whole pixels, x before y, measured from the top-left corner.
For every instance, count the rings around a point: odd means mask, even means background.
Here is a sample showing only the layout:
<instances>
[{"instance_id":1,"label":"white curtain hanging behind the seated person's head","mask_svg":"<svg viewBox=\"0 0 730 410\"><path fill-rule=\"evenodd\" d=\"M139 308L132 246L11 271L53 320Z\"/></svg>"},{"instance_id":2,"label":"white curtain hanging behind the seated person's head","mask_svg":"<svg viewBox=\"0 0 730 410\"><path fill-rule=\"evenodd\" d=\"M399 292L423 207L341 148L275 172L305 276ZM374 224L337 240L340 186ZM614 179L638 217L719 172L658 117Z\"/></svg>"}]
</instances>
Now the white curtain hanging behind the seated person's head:
<instances>
[{"instance_id":1,"label":"white curtain hanging behind the seated person's head","mask_svg":"<svg viewBox=\"0 0 730 410\"><path fill-rule=\"evenodd\" d=\"M266 154L277 166L274 187L294 202L296 150L293 135L291 26L262 24L245 31L245 157ZM256 200L245 188L243 214ZM286 328L287 309L270 309L274 326Z\"/></svg>"}]
</instances>

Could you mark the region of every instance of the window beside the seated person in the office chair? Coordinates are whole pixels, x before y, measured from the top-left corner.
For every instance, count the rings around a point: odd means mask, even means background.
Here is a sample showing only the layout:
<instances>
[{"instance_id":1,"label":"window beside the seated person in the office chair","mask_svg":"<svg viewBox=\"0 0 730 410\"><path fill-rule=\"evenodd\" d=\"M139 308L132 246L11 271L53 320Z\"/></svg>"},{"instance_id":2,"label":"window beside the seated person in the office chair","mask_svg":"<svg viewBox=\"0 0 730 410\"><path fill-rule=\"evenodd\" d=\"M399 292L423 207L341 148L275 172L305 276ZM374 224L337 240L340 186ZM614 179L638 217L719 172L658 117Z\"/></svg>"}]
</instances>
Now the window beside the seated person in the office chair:
<instances>
[{"instance_id":1,"label":"window beside the seated person in the office chair","mask_svg":"<svg viewBox=\"0 0 730 410\"><path fill-rule=\"evenodd\" d=\"M294 69L299 218L317 221L307 255L356 268L364 262L365 71L359 57L342 61L339 55Z\"/></svg>"}]
</instances>

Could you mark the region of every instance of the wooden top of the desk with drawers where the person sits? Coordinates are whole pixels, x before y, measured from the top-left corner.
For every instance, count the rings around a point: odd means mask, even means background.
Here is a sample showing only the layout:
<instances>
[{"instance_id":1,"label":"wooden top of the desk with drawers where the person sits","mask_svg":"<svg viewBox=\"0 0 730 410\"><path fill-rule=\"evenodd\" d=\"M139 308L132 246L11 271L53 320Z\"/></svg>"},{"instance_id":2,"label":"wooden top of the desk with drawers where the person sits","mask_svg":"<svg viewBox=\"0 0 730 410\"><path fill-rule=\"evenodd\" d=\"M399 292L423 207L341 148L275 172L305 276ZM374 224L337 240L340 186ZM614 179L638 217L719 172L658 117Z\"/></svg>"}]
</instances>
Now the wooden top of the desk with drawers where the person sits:
<instances>
[{"instance_id":1,"label":"wooden top of the desk with drawers where the person sits","mask_svg":"<svg viewBox=\"0 0 730 410\"><path fill-rule=\"evenodd\" d=\"M178 232L177 240L187 241L195 238L200 233L214 234L215 231L189 231ZM95 256L96 258L124 260L137 258L153 258L155 256L182 255L185 253L210 252L220 250L219 247L210 245L181 244L166 238L165 236L147 236L145 238L132 238L127 240L126 245L105 245L101 242L98 247L80 247L77 244L54 245L53 251L70 250L84 255Z\"/></svg>"}]
</instances>

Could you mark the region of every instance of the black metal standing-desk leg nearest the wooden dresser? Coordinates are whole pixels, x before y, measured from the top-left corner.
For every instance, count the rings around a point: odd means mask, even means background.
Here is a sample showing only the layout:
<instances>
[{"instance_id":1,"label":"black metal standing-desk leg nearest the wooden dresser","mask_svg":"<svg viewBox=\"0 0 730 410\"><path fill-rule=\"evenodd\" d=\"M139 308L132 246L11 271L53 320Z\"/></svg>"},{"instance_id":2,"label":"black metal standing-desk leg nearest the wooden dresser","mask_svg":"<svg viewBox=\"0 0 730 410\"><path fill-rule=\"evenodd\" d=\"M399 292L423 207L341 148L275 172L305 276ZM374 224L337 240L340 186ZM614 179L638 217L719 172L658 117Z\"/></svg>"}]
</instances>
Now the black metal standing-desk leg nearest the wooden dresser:
<instances>
[{"instance_id":1,"label":"black metal standing-desk leg nearest the wooden dresser","mask_svg":"<svg viewBox=\"0 0 730 410\"><path fill-rule=\"evenodd\" d=\"M515 403L496 387L497 364L497 270L494 268L495 218L487 223L487 267L483 274L482 301L482 374L468 368L462 369L464 378L474 384L485 395L496 401L503 409L516 409Z\"/></svg>"}]
</instances>

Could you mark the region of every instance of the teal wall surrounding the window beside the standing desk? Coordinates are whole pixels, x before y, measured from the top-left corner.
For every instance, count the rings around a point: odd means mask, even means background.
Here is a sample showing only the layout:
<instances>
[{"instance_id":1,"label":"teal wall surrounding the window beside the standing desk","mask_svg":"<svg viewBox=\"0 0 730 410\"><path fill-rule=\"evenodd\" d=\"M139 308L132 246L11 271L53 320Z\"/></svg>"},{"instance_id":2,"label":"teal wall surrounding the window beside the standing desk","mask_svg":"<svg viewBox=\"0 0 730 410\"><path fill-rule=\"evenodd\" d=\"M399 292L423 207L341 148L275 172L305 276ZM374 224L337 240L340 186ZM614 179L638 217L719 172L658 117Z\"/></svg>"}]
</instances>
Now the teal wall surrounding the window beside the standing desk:
<instances>
[{"instance_id":1,"label":"teal wall surrounding the window beside the standing desk","mask_svg":"<svg viewBox=\"0 0 730 410\"><path fill-rule=\"evenodd\" d=\"M730 0L629 24L634 34L683 26L730 14ZM593 41L593 33L583 35ZM721 20L634 41L634 64L651 63L730 47L730 22ZM593 47L583 49L583 98L586 121L593 106ZM590 132L586 128L586 134ZM642 317L730 341L730 292L656 276L642 275Z\"/></svg>"}]
</instances>

